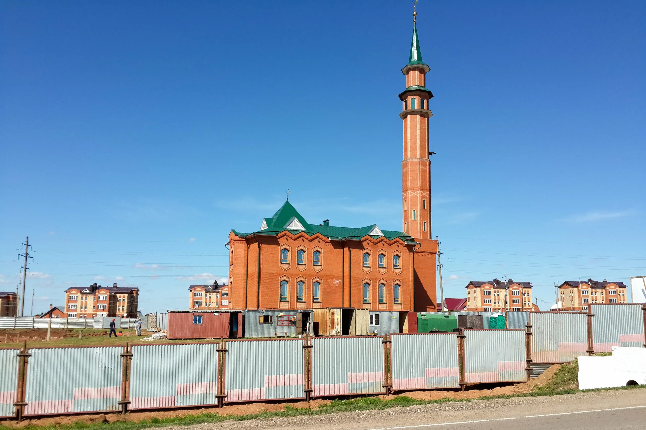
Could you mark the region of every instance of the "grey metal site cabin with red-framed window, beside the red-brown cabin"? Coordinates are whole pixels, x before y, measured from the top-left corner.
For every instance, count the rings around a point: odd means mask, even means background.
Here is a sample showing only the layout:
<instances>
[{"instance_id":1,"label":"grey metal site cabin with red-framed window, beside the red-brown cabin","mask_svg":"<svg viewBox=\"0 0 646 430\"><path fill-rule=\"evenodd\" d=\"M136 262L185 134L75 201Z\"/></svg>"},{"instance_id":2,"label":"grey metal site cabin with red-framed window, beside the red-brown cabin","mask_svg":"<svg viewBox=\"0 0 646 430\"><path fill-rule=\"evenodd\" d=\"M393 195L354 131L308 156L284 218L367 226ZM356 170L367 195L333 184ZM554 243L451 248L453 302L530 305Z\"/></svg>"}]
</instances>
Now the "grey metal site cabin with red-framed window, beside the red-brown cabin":
<instances>
[{"instance_id":1,"label":"grey metal site cabin with red-framed window, beside the red-brown cabin","mask_svg":"<svg viewBox=\"0 0 646 430\"><path fill-rule=\"evenodd\" d=\"M245 311L245 337L297 337L313 333L312 311Z\"/></svg>"}]
</instances>

